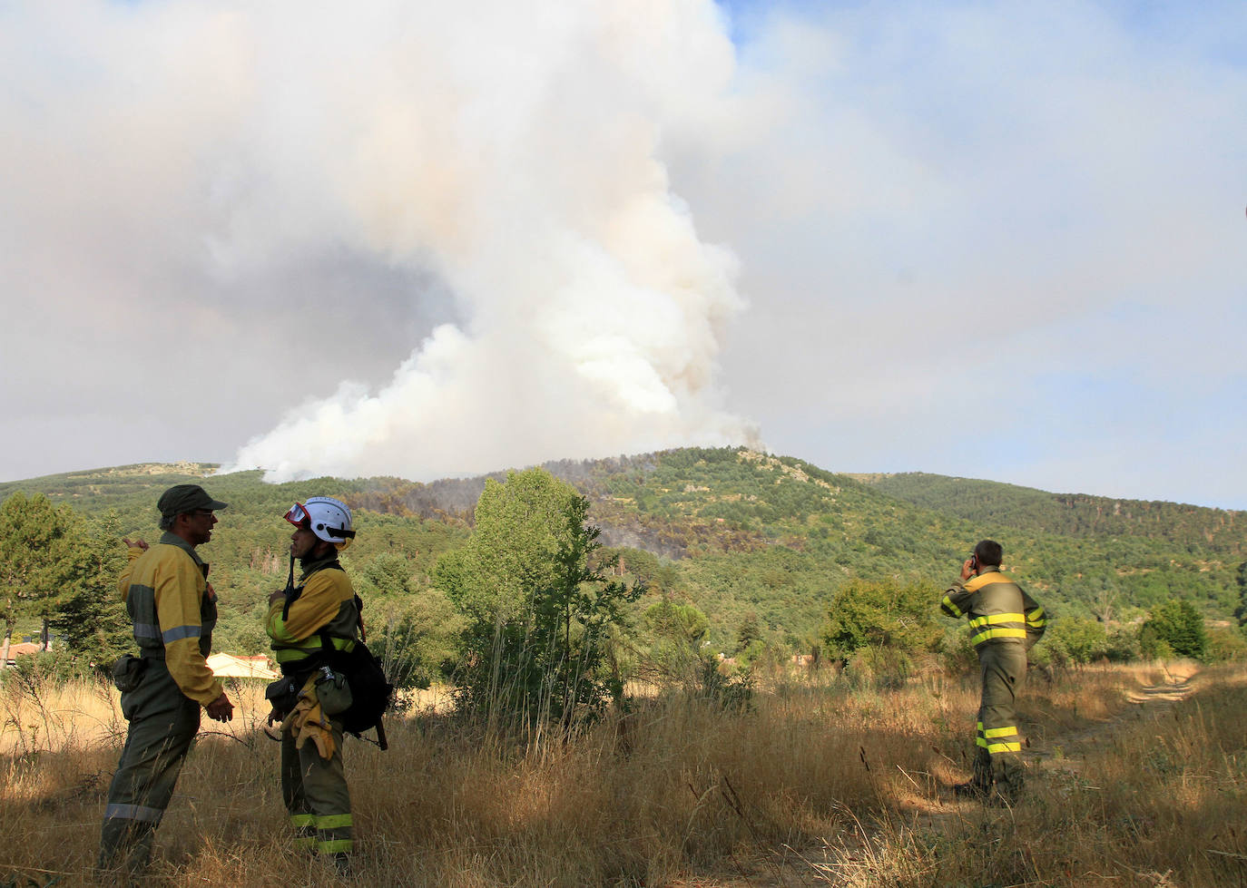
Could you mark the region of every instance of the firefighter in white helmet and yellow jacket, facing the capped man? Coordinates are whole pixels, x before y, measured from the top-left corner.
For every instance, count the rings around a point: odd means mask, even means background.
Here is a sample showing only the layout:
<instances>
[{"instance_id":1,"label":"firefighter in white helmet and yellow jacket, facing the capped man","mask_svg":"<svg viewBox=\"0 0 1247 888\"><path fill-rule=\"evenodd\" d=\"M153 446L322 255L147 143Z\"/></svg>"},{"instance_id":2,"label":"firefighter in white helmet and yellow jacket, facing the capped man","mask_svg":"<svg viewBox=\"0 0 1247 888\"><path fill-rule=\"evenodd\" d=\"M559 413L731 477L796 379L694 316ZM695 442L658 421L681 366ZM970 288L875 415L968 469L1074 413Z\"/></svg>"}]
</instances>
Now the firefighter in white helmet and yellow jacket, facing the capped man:
<instances>
[{"instance_id":1,"label":"firefighter in white helmet and yellow jacket, facing the capped man","mask_svg":"<svg viewBox=\"0 0 1247 888\"><path fill-rule=\"evenodd\" d=\"M353 851L350 792L342 762L342 722L330 700L345 683L325 676L330 651L348 651L360 638L359 599L338 562L350 544L350 509L332 497L312 497L286 513L291 536L291 582L269 597L264 628L282 675L299 702L282 722L282 798L297 842L333 856L347 868ZM293 583L293 562L302 574ZM323 704L323 705L322 705Z\"/></svg>"}]
</instances>

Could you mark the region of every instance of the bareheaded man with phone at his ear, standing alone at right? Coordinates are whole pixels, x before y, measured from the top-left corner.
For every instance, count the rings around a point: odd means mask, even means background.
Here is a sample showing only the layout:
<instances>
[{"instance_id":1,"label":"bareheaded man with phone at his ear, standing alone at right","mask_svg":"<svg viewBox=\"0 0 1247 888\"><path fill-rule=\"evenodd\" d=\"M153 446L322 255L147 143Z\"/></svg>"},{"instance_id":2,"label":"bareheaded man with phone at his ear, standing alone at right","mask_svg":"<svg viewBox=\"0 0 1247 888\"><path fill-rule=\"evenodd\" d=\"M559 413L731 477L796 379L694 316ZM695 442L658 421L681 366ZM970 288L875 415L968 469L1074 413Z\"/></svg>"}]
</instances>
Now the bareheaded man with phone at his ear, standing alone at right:
<instances>
[{"instance_id":1,"label":"bareheaded man with phone at his ear, standing alone at right","mask_svg":"<svg viewBox=\"0 0 1247 888\"><path fill-rule=\"evenodd\" d=\"M953 788L993 803L1015 802L1023 790L1015 700L1026 678L1026 651L1046 628L1044 609L1000 572L1003 557L1000 543L980 541L940 604L949 616L969 618L983 680L974 777Z\"/></svg>"}]
</instances>

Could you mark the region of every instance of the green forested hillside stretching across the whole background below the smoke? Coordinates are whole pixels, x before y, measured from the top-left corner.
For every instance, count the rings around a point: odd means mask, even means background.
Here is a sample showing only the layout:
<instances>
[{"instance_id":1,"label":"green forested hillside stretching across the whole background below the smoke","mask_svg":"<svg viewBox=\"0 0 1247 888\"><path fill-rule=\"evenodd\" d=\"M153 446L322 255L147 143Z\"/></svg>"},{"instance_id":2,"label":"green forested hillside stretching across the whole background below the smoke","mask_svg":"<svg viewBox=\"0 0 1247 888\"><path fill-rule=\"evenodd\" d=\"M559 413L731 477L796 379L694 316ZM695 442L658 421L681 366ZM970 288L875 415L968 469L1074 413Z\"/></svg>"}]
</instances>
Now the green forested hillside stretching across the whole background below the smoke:
<instances>
[{"instance_id":1,"label":"green forested hillside stretching across the whole background below the smoke","mask_svg":"<svg viewBox=\"0 0 1247 888\"><path fill-rule=\"evenodd\" d=\"M1005 544L1006 567L1056 615L1131 619L1171 598L1228 619L1247 552L1243 513L1175 503L1066 497L932 475L847 476L744 448L680 448L544 466L590 501L612 559L656 597L687 602L726 645L739 626L793 649L817 636L834 593L853 578L895 578L933 600L983 537ZM207 547L228 593L223 638L262 645L257 614L284 582L289 528L281 516L314 493L355 509L359 537L344 564L359 588L440 613L433 573L463 547L486 478L317 478L267 484L259 472L212 475L208 463L133 465L0 483L69 503L110 536L155 536L168 486L203 483L229 503ZM499 472L489 477L505 479ZM113 517L115 516L115 517ZM101 523L101 532L104 524ZM423 597L423 598L421 598ZM416 607L413 604L413 607ZM431 610L430 610L431 608Z\"/></svg>"}]
</instances>

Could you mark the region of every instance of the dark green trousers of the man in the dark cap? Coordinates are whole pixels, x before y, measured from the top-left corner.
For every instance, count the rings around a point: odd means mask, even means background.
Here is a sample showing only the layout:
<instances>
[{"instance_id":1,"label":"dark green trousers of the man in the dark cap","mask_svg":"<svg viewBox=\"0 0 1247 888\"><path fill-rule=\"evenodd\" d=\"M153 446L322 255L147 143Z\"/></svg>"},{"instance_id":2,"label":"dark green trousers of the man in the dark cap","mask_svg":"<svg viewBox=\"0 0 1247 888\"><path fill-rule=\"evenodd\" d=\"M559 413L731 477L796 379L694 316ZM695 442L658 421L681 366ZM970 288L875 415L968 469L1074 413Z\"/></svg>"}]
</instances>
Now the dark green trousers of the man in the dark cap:
<instances>
[{"instance_id":1,"label":"dark green trousers of the man in the dark cap","mask_svg":"<svg viewBox=\"0 0 1247 888\"><path fill-rule=\"evenodd\" d=\"M108 787L100 831L100 868L143 869L173 797L177 775L200 730L200 704L182 694L163 660L147 660L138 686L121 695L130 722Z\"/></svg>"}]
</instances>

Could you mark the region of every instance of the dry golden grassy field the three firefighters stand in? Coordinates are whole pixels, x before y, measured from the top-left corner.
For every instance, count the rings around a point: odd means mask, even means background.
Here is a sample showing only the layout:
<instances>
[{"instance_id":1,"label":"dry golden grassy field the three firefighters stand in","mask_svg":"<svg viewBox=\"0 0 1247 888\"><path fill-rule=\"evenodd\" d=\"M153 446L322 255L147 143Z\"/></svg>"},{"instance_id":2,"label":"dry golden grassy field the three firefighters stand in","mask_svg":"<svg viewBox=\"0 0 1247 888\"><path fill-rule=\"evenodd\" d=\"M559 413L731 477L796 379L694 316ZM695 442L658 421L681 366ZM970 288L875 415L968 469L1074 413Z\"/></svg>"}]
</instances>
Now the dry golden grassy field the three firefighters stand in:
<instances>
[{"instance_id":1,"label":"dry golden grassy field the three firefighters stand in","mask_svg":"<svg viewBox=\"0 0 1247 888\"><path fill-rule=\"evenodd\" d=\"M286 829L278 745L254 689L205 720L157 839L153 883L338 884ZM539 750L431 710L390 749L347 744L369 886L1247 884L1247 669L1033 673L1030 792L954 800L976 689L895 690L829 671L763 679L725 711L651 697ZM91 884L125 736L116 692L0 687L0 886Z\"/></svg>"}]
</instances>

